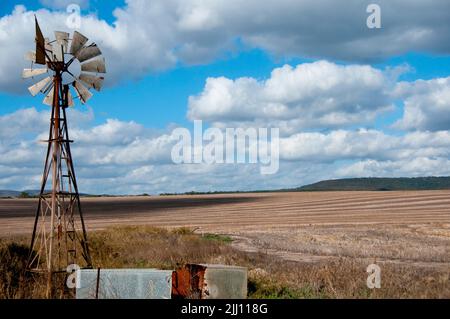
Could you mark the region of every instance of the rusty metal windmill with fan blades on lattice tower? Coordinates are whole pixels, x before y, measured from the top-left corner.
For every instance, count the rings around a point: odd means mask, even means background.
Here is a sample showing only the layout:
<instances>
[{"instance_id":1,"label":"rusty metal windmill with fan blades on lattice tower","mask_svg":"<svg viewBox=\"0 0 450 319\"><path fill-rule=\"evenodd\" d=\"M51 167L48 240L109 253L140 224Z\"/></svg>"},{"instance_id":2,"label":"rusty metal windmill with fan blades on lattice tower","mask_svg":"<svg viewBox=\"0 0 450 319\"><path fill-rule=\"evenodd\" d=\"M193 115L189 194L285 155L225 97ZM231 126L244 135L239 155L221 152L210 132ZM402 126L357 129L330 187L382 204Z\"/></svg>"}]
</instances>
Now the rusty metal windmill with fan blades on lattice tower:
<instances>
[{"instance_id":1,"label":"rusty metal windmill with fan blades on lattice tower","mask_svg":"<svg viewBox=\"0 0 450 319\"><path fill-rule=\"evenodd\" d=\"M89 89L100 91L104 78L98 74L106 73L106 69L100 49L95 43L86 45L88 38L79 32L69 38L69 33L56 31L56 40L50 41L42 35L36 18L35 23L36 51L25 56L31 68L23 70L23 78L43 77L28 90L33 96L43 93L43 103L51 106L52 111L28 269L47 274L47 295L51 297L55 273L65 272L71 264L92 267L66 109L74 106L74 97L86 103L92 97ZM34 68L35 65L45 67Z\"/></svg>"}]
</instances>

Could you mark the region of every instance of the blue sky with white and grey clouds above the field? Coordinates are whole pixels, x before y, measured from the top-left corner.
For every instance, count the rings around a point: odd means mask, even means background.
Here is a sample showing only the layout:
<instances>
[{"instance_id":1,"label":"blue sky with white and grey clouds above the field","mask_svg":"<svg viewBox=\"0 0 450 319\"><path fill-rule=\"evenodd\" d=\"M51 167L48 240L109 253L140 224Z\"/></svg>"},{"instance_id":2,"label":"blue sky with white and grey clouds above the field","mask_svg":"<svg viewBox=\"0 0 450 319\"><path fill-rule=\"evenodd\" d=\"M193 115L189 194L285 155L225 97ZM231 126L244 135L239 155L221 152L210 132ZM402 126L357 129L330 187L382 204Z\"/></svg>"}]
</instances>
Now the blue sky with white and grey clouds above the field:
<instances>
[{"instance_id":1,"label":"blue sky with white and grey clouds above the field","mask_svg":"<svg viewBox=\"0 0 450 319\"><path fill-rule=\"evenodd\" d=\"M450 173L446 1L378 1L382 28L368 29L370 1L342 8L331 0L28 0L0 6L0 44L10 47L0 53L0 189L39 183L43 147L35 141L48 107L20 79L22 55L33 48L32 16L44 33L67 30L73 2L82 7L79 31L99 44L108 68L102 92L71 110L87 192L270 189ZM172 129L191 129L195 119L206 127L279 127L279 172L174 165ZM95 134L103 134L99 145L87 137Z\"/></svg>"}]
</instances>

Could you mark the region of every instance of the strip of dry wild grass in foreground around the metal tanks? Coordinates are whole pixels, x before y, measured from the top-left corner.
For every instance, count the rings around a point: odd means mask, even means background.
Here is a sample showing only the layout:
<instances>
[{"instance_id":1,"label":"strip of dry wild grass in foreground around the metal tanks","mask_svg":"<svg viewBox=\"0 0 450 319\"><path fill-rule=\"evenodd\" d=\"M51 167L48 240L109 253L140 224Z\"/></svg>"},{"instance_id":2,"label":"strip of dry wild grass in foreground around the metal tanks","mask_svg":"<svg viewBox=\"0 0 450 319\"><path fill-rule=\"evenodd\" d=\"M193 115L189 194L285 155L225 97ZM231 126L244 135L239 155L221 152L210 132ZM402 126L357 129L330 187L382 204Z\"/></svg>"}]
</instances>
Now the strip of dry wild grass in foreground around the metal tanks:
<instances>
[{"instance_id":1,"label":"strip of dry wild grass in foreground around the metal tanks","mask_svg":"<svg viewBox=\"0 0 450 319\"><path fill-rule=\"evenodd\" d=\"M174 269L217 263L249 269L249 298L450 298L450 270L383 265L382 288L366 287L367 264L340 258L319 264L234 249L227 236L191 229L115 227L89 234L95 267ZM28 238L0 239L0 298L43 298L40 278L24 273ZM62 279L64 280L64 279ZM58 298L71 298L59 291Z\"/></svg>"}]
</instances>

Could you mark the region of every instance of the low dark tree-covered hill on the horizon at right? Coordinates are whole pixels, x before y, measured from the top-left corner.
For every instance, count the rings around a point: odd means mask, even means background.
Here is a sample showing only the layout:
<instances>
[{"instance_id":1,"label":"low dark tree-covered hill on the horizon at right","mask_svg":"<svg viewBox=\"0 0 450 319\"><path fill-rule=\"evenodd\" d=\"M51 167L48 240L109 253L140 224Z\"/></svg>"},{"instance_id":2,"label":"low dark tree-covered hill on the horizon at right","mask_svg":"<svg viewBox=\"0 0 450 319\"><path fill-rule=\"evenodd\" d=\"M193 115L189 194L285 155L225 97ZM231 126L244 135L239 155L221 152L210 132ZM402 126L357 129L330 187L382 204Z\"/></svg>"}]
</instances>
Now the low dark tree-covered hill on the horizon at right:
<instances>
[{"instance_id":1,"label":"low dark tree-covered hill on the horizon at right","mask_svg":"<svg viewBox=\"0 0 450 319\"><path fill-rule=\"evenodd\" d=\"M325 180L291 191L394 191L450 189L450 177L344 178Z\"/></svg>"}]
</instances>

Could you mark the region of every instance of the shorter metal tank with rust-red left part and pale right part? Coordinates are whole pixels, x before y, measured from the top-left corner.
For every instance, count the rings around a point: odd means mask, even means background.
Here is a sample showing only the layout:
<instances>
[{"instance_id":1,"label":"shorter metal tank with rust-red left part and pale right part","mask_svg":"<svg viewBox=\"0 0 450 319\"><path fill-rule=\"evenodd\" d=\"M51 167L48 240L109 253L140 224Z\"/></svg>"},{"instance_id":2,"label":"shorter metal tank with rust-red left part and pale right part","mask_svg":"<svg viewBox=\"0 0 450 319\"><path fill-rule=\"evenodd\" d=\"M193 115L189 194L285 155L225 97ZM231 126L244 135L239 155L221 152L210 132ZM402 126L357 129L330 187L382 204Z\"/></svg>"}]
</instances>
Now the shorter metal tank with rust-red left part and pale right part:
<instances>
[{"instance_id":1,"label":"shorter metal tank with rust-red left part and pale right part","mask_svg":"<svg viewBox=\"0 0 450 319\"><path fill-rule=\"evenodd\" d=\"M172 297L185 299L247 298L247 268L187 264L172 277Z\"/></svg>"}]
</instances>

